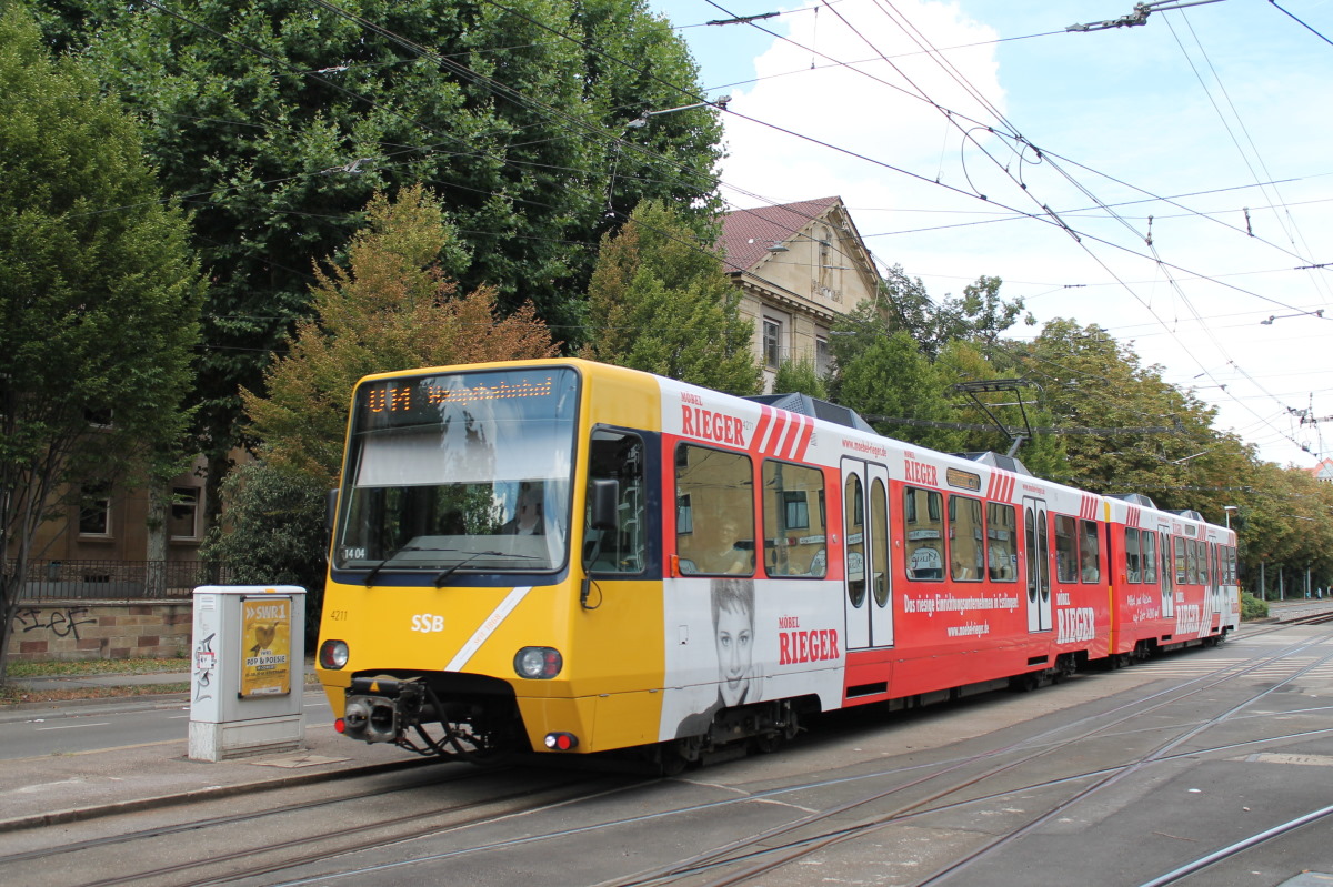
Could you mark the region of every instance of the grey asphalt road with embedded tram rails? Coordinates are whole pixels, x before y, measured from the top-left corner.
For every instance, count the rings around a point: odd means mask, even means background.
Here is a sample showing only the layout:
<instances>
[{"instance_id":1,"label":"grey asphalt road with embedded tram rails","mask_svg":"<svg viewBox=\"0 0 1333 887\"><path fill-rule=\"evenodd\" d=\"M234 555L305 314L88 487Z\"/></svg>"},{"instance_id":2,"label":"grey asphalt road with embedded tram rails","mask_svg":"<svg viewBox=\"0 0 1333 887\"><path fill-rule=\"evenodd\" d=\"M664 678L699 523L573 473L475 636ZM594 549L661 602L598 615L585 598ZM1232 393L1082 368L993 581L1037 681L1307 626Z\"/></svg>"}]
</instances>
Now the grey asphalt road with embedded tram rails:
<instances>
[{"instance_id":1,"label":"grey asphalt road with embedded tram rails","mask_svg":"<svg viewBox=\"0 0 1333 887\"><path fill-rule=\"evenodd\" d=\"M328 717L321 698L305 702L312 719ZM32 754L12 737L39 737L37 754L65 737L179 740L184 705L11 717L0 756ZM111 733L115 718L124 733ZM25 832L12 840L52 855L0 866L0 883L1148 887L1325 811L1172 882L1277 887L1333 871L1333 627L1248 629L1220 649L1030 694L866 707L776 754L672 779L555 760L436 764L381 776L393 784L319 783ZM91 839L108 843L67 852Z\"/></svg>"}]
</instances>

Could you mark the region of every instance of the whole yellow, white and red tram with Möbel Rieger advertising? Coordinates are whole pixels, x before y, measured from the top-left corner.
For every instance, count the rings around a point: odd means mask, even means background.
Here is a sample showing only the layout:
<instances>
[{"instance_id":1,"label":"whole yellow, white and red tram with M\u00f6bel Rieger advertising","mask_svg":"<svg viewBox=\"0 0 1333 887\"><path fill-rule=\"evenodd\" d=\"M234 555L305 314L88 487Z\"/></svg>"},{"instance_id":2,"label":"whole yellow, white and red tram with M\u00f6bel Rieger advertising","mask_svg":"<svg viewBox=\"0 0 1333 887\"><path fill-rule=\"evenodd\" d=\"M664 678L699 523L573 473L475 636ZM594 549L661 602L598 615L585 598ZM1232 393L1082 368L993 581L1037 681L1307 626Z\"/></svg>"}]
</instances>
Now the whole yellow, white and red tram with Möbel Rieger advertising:
<instances>
[{"instance_id":1,"label":"whole yellow, white and red tram with M\u00f6bel Rieger advertising","mask_svg":"<svg viewBox=\"0 0 1333 887\"><path fill-rule=\"evenodd\" d=\"M1197 513L804 396L517 361L357 384L317 671L353 739L696 760L1238 621Z\"/></svg>"}]
</instances>

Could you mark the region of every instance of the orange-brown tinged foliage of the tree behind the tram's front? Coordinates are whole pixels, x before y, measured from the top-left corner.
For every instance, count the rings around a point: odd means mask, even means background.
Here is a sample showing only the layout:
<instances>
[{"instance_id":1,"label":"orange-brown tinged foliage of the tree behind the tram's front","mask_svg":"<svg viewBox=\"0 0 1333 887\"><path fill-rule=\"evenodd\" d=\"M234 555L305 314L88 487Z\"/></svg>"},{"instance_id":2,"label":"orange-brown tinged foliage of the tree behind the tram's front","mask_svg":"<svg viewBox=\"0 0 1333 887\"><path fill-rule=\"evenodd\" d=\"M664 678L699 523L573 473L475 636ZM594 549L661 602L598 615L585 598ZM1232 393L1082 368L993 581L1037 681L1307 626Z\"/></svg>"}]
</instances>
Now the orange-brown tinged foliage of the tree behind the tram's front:
<instances>
[{"instance_id":1,"label":"orange-brown tinged foliage of the tree behind the tram's front","mask_svg":"<svg viewBox=\"0 0 1333 887\"><path fill-rule=\"evenodd\" d=\"M315 317L269 366L268 394L244 392L264 458L320 487L337 485L348 401L363 376L557 353L531 306L497 320L493 290L457 296L445 273L460 256L456 236L429 192L376 194L365 216L347 266L319 272Z\"/></svg>"}]
</instances>

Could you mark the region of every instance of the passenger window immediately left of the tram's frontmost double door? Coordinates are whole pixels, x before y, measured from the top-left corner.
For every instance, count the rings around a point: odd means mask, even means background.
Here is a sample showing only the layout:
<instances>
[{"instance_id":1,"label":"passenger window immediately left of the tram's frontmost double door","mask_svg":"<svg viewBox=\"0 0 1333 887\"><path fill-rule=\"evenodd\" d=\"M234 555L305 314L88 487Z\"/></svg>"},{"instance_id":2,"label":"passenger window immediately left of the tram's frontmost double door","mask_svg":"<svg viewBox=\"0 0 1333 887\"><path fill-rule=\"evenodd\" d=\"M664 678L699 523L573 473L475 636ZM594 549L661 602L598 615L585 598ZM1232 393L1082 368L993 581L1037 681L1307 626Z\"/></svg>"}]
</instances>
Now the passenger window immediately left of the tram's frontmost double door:
<instances>
[{"instance_id":1,"label":"passenger window immediately left of the tram's frontmost double door","mask_svg":"<svg viewBox=\"0 0 1333 887\"><path fill-rule=\"evenodd\" d=\"M769 575L821 578L828 571L824 473L764 462L764 561Z\"/></svg>"}]
</instances>

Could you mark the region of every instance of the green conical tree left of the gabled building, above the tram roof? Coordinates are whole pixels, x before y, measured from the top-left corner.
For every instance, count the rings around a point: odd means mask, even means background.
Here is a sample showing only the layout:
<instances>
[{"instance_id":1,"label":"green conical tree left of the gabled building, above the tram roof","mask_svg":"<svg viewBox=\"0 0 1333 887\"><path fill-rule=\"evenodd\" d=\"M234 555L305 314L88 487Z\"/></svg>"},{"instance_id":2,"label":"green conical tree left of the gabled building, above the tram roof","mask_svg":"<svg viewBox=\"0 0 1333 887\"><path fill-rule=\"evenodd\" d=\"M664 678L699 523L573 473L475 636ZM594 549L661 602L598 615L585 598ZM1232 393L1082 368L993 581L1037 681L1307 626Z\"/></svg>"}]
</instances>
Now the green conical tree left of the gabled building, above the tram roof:
<instances>
[{"instance_id":1,"label":"green conical tree left of the gabled building, above the tram roof","mask_svg":"<svg viewBox=\"0 0 1333 887\"><path fill-rule=\"evenodd\" d=\"M756 394L754 328L710 244L661 202L607 234L588 288L583 356L730 394Z\"/></svg>"}]
</instances>

